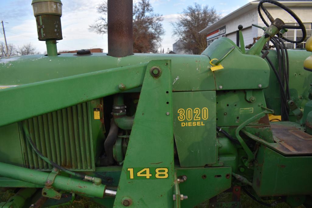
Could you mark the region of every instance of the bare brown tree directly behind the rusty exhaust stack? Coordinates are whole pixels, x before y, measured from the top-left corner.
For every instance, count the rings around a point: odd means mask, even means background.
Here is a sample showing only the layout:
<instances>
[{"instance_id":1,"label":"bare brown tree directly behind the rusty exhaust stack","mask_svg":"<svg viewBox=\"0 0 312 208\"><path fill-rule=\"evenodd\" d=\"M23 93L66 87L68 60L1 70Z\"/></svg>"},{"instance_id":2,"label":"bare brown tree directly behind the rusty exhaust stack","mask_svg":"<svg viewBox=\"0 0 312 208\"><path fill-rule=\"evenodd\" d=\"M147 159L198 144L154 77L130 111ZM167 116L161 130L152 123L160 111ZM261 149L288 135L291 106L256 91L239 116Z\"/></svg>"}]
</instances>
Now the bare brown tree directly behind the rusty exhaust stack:
<instances>
[{"instance_id":1,"label":"bare brown tree directly behind the rusty exhaust stack","mask_svg":"<svg viewBox=\"0 0 312 208\"><path fill-rule=\"evenodd\" d=\"M107 14L107 2L103 2L97 8L102 15ZM133 7L133 52L148 53L157 52L161 36L165 33L161 22L163 17L154 13L149 0L139 0ZM98 21L89 26L89 30L105 34L107 33L107 19L100 17Z\"/></svg>"}]
</instances>

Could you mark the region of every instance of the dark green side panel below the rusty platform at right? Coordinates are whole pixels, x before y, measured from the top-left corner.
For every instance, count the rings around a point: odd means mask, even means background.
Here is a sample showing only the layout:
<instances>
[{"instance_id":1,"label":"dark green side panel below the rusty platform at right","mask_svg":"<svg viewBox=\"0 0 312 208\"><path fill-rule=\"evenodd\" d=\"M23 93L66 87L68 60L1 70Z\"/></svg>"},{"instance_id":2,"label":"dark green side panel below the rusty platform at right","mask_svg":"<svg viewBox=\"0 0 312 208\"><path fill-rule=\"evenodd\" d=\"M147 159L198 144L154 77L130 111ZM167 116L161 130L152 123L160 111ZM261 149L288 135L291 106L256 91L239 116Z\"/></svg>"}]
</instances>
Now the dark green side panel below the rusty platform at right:
<instances>
[{"instance_id":1,"label":"dark green side panel below the rusty platform at right","mask_svg":"<svg viewBox=\"0 0 312 208\"><path fill-rule=\"evenodd\" d=\"M258 196L312 193L312 157L285 157L261 145L256 160L252 187Z\"/></svg>"}]
</instances>

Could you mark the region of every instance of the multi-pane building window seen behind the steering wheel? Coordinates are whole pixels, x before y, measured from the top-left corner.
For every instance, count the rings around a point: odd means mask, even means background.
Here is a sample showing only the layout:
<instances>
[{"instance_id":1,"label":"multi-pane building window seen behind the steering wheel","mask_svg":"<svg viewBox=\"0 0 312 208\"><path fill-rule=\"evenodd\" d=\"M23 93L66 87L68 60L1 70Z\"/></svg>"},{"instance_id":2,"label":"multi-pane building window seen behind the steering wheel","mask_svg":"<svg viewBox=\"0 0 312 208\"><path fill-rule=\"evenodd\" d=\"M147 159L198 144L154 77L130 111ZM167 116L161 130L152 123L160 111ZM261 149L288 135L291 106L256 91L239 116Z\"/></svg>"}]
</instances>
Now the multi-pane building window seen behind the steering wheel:
<instances>
[{"instance_id":1,"label":"multi-pane building window seen behind the steering wheel","mask_svg":"<svg viewBox=\"0 0 312 208\"><path fill-rule=\"evenodd\" d=\"M311 37L311 24L312 23L303 23L305 25L305 30L307 31L307 37L302 43L290 43L285 42L287 49L293 48L305 48L305 42L309 37ZM285 23L285 25L294 25L299 26L298 23ZM300 40L302 38L302 31L301 29L288 29L288 31L283 35L285 38L290 40Z\"/></svg>"}]
</instances>

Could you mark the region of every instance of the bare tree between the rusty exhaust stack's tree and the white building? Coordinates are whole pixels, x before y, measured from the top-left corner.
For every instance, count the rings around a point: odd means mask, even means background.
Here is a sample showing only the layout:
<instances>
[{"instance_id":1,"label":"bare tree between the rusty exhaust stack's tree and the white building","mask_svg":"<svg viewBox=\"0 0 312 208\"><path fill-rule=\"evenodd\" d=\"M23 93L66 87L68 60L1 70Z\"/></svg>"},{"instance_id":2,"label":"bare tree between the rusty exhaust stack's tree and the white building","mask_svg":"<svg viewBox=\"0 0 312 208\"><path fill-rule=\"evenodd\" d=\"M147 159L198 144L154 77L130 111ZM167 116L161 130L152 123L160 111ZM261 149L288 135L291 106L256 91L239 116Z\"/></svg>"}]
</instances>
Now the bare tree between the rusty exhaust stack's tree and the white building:
<instances>
[{"instance_id":1,"label":"bare tree between the rusty exhaust stack's tree and the white building","mask_svg":"<svg viewBox=\"0 0 312 208\"><path fill-rule=\"evenodd\" d=\"M212 7L195 3L194 6L188 6L178 17L173 26L173 36L183 41L179 49L192 54L200 54L207 47L206 36L198 34L199 31L208 25L218 21L220 15Z\"/></svg>"}]
</instances>

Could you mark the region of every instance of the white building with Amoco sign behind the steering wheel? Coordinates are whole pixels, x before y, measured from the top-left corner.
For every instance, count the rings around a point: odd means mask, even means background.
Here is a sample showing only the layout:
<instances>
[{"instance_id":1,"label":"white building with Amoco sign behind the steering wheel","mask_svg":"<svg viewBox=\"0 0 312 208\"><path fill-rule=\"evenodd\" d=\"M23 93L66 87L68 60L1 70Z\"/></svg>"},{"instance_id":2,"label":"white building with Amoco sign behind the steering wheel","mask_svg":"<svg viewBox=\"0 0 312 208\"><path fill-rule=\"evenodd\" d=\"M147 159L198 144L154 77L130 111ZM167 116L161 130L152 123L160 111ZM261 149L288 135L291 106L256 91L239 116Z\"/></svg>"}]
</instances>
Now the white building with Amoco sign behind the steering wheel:
<instances>
[{"instance_id":1,"label":"white building with Amoco sign behind the steering wheel","mask_svg":"<svg viewBox=\"0 0 312 208\"><path fill-rule=\"evenodd\" d=\"M312 23L312 1L279 1L284 4L286 7L290 8L304 23L305 29L307 32L307 38L311 36L311 23ZM265 24L262 22L257 6L259 1L249 2L243 7L237 9L236 11L228 14L223 17L219 21L214 24L206 27L199 33L206 34L207 36L207 44L209 45L215 39L221 37L222 35L226 35L233 42L238 44L238 25L242 25L242 33L244 36L245 46L254 42L254 38L262 36L263 30L257 27L251 26L251 24L256 24L261 27L265 27ZM296 20L291 17L286 11L282 8L277 7L270 3L264 3L264 7L271 13L273 18L280 18L285 22L285 24L289 25L298 25L296 24ZM262 12L262 11L261 11ZM270 21L266 17L266 15L262 12L263 17L266 19L266 22L270 24ZM284 37L293 40L300 40L302 37L302 31L300 29L294 30L289 29L286 32ZM301 37L300 37L301 36ZM305 42L294 44L294 43L286 43L287 48L303 48Z\"/></svg>"}]
</instances>

